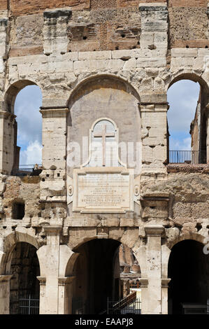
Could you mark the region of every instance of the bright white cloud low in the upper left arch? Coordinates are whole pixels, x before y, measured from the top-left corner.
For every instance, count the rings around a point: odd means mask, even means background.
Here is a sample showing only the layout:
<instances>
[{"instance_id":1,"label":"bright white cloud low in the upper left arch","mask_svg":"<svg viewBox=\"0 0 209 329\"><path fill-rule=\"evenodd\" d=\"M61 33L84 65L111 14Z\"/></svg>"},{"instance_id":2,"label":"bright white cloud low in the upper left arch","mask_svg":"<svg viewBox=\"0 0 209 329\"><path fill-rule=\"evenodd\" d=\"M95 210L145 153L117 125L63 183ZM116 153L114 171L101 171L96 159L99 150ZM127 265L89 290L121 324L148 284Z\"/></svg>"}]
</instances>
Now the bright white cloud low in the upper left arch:
<instances>
[{"instance_id":1,"label":"bright white cloud low in the upper left arch","mask_svg":"<svg viewBox=\"0 0 209 329\"><path fill-rule=\"evenodd\" d=\"M42 146L38 141L30 142L27 149L20 152L20 165L41 165Z\"/></svg>"}]
</instances>

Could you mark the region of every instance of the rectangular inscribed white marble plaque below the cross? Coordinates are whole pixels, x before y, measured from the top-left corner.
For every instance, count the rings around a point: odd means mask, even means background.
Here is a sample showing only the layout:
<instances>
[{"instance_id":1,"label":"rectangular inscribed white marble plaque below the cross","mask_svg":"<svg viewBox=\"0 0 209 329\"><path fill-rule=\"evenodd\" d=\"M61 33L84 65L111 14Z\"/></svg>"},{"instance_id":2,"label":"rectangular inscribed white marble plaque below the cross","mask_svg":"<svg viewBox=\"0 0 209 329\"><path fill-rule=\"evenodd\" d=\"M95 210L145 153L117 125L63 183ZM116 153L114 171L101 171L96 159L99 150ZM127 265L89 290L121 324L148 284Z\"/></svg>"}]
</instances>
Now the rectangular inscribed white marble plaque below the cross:
<instances>
[{"instance_id":1,"label":"rectangular inscribed white marble plaque below the cross","mask_svg":"<svg viewBox=\"0 0 209 329\"><path fill-rule=\"evenodd\" d=\"M124 213L134 210L133 169L75 169L73 181L73 211Z\"/></svg>"}]
</instances>

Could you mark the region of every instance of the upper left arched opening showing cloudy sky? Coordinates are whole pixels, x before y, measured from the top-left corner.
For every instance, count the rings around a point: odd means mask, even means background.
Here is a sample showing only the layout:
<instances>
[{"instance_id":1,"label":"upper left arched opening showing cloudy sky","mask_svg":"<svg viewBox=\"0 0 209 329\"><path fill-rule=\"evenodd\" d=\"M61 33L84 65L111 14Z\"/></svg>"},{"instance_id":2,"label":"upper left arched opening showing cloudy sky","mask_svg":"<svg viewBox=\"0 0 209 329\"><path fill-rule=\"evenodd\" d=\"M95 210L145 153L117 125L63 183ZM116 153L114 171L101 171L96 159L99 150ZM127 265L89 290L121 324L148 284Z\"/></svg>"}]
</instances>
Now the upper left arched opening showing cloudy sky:
<instances>
[{"instance_id":1,"label":"upper left arched opening showing cloudy sky","mask_svg":"<svg viewBox=\"0 0 209 329\"><path fill-rule=\"evenodd\" d=\"M36 169L42 162L41 104L41 89L29 80L14 83L6 93L6 109L13 118L13 125L8 123L13 140L7 167L14 176L40 174Z\"/></svg>"}]
</instances>

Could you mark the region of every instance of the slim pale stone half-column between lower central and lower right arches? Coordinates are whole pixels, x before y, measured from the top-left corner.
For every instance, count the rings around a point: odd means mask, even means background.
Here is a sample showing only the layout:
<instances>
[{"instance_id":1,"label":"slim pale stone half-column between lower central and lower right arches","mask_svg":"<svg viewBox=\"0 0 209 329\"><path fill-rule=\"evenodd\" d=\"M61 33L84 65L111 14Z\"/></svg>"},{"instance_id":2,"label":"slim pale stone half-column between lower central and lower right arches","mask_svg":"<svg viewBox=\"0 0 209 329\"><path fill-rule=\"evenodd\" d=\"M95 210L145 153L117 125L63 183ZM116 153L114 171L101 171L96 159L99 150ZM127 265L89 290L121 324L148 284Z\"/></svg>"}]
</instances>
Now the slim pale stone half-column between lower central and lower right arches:
<instances>
[{"instance_id":1,"label":"slim pale stone half-column between lower central and lower right arches","mask_svg":"<svg viewBox=\"0 0 209 329\"><path fill-rule=\"evenodd\" d=\"M143 314L162 314L161 307L161 235L163 225L146 225L147 235L147 303Z\"/></svg>"}]
</instances>

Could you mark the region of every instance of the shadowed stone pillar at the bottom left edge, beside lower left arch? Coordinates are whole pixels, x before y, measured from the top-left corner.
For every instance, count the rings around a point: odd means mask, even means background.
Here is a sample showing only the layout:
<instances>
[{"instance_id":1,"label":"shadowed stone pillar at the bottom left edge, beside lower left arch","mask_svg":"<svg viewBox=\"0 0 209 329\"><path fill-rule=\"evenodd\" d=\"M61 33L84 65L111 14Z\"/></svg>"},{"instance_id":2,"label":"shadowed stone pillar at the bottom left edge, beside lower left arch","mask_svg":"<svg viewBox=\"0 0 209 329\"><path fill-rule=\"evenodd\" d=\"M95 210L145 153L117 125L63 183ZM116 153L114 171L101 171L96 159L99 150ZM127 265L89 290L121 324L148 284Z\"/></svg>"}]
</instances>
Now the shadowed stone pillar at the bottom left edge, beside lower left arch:
<instances>
[{"instance_id":1,"label":"shadowed stone pillar at the bottom left edge, beside lower left arch","mask_svg":"<svg viewBox=\"0 0 209 329\"><path fill-rule=\"evenodd\" d=\"M0 275L0 314L9 314L10 279L13 275Z\"/></svg>"}]
</instances>

